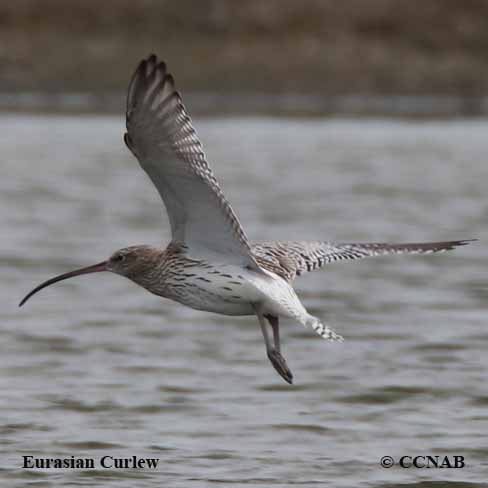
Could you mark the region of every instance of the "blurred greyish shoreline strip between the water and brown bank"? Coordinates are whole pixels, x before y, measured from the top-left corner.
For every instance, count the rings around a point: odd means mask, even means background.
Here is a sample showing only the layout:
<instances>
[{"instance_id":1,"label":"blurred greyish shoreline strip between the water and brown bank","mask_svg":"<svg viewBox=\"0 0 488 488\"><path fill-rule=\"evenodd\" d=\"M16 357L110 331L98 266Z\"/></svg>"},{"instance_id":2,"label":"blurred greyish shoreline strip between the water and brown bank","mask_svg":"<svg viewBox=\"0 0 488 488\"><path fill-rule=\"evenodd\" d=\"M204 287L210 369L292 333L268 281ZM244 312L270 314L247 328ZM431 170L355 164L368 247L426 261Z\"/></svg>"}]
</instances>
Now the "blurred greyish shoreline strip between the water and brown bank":
<instances>
[{"instance_id":1,"label":"blurred greyish shoreline strip between the water and brown bank","mask_svg":"<svg viewBox=\"0 0 488 488\"><path fill-rule=\"evenodd\" d=\"M125 93L0 93L0 112L55 114L123 114ZM488 97L381 96L311 94L225 95L183 94L190 114L197 116L271 115L287 117L486 117Z\"/></svg>"}]
</instances>

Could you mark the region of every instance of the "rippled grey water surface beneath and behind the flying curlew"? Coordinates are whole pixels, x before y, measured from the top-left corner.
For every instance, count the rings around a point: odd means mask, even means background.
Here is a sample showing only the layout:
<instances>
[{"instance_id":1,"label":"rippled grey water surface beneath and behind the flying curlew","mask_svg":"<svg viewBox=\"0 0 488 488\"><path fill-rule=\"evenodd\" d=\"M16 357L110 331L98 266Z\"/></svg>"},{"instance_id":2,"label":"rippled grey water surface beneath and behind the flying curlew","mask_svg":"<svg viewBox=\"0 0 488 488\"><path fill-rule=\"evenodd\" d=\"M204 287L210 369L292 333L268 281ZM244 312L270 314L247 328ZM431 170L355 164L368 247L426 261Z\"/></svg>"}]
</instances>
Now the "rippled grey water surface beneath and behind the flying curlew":
<instances>
[{"instance_id":1,"label":"rippled grey water surface beneath and behind the flying curlew","mask_svg":"<svg viewBox=\"0 0 488 488\"><path fill-rule=\"evenodd\" d=\"M2 485L482 486L488 122L197 127L252 239L481 241L300 278L305 306L346 341L284 322L289 386L255 318L185 309L108 273L53 286L18 309L38 282L125 245L167 242L169 226L122 143L122 118L1 115ZM466 467L379 464L427 454L463 455ZM28 471L22 455L160 462Z\"/></svg>"}]
</instances>

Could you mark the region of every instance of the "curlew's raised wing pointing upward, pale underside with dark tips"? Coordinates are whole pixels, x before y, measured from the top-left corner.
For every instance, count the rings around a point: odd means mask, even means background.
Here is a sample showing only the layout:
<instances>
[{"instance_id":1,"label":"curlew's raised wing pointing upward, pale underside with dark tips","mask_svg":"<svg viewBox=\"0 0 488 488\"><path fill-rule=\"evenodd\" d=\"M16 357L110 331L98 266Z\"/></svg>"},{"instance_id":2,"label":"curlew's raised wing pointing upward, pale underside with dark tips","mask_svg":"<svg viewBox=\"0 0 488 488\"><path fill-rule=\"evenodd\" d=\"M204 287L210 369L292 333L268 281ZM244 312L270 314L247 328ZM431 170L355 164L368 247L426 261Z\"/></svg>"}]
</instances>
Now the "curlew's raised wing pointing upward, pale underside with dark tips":
<instances>
[{"instance_id":1,"label":"curlew's raised wing pointing upward, pale underside with dark tips","mask_svg":"<svg viewBox=\"0 0 488 488\"><path fill-rule=\"evenodd\" d=\"M173 77L154 55L141 61L130 83L124 140L164 201L174 242L257 267Z\"/></svg>"}]
</instances>

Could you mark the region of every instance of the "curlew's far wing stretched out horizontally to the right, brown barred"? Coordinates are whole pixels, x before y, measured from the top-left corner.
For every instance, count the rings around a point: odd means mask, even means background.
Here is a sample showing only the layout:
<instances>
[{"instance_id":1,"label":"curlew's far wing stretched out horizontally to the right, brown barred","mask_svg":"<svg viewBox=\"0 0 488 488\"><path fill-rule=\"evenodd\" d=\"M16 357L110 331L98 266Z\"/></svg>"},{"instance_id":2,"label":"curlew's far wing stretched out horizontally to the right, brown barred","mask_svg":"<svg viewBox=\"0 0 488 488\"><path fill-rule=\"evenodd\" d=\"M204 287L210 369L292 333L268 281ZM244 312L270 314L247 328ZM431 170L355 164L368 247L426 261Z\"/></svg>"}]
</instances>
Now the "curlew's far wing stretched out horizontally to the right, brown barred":
<instances>
[{"instance_id":1,"label":"curlew's far wing stretched out horizontally to the right, brown barred","mask_svg":"<svg viewBox=\"0 0 488 488\"><path fill-rule=\"evenodd\" d=\"M475 240L475 239L474 239ZM471 240L422 242L410 244L344 243L320 241L269 241L252 246L258 263L288 281L327 263L345 259L361 259L385 254L428 254L449 251Z\"/></svg>"}]
</instances>

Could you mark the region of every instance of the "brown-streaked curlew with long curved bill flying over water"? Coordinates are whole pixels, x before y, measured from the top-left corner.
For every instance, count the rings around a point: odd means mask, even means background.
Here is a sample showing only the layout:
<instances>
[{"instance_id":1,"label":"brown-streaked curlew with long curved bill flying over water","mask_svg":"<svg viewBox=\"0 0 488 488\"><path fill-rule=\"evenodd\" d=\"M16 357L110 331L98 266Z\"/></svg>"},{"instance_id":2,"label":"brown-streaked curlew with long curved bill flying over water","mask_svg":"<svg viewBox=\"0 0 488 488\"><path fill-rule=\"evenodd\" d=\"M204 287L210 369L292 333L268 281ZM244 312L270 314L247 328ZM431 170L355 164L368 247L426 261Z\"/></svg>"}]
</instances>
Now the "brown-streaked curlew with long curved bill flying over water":
<instances>
[{"instance_id":1,"label":"brown-streaked curlew with long curved bill flying over water","mask_svg":"<svg viewBox=\"0 0 488 488\"><path fill-rule=\"evenodd\" d=\"M292 383L293 375L281 354L280 318L311 326L326 340L343 340L307 312L293 289L297 276L333 261L427 254L469 242L249 241L207 163L173 76L154 55L141 61L132 77L126 125L124 141L166 207L171 242L166 248L137 245L119 249L101 263L41 283L19 306L58 281L110 271L197 310L256 315L269 360Z\"/></svg>"}]
</instances>

